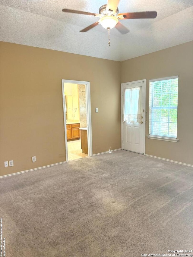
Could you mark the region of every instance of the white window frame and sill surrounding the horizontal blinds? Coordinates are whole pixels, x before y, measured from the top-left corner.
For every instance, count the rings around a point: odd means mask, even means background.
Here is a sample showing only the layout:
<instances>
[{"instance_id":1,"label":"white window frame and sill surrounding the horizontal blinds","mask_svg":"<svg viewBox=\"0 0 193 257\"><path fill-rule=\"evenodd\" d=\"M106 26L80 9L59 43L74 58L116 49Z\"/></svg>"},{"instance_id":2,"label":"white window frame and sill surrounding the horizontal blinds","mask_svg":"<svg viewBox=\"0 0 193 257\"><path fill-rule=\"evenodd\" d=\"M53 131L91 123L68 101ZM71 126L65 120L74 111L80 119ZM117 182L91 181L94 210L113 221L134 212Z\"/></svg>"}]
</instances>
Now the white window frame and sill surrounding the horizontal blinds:
<instances>
[{"instance_id":1,"label":"white window frame and sill surrounding the horizontal blinds","mask_svg":"<svg viewBox=\"0 0 193 257\"><path fill-rule=\"evenodd\" d=\"M172 76L172 77L166 77L166 78L159 78L159 79L149 80L149 88L150 88L150 83L152 83L152 82L162 81L162 80L171 80L171 79L179 79L179 77L178 76ZM149 97L149 104L150 104L150 100L151 99ZM178 110L178 106L177 106L177 110ZM149 125L150 125L150 121L149 121ZM176 142L176 143L179 141L179 139L177 139L177 136L176 137L172 137L172 136L160 136L160 135L150 134L150 128L149 128L149 135L147 136L147 138L149 138L149 139L157 139L157 140L164 140L164 141L169 141L169 142Z\"/></svg>"}]
</instances>

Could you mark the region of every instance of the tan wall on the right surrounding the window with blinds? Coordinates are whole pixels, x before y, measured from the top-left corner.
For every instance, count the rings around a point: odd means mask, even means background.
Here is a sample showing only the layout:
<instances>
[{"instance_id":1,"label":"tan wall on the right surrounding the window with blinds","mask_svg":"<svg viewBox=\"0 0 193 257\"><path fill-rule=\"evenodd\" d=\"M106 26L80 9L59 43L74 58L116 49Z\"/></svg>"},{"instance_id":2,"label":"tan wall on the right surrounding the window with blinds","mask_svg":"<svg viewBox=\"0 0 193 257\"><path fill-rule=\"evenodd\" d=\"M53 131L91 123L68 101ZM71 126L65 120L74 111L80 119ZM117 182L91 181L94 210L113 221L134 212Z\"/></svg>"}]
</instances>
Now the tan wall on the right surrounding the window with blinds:
<instances>
[{"instance_id":1,"label":"tan wall on the right surrounding the window with blinds","mask_svg":"<svg viewBox=\"0 0 193 257\"><path fill-rule=\"evenodd\" d=\"M180 141L173 143L146 138L146 154L193 165L193 41L121 63L121 83L147 80L147 111L149 80L176 75L179 76L177 138Z\"/></svg>"}]
</instances>

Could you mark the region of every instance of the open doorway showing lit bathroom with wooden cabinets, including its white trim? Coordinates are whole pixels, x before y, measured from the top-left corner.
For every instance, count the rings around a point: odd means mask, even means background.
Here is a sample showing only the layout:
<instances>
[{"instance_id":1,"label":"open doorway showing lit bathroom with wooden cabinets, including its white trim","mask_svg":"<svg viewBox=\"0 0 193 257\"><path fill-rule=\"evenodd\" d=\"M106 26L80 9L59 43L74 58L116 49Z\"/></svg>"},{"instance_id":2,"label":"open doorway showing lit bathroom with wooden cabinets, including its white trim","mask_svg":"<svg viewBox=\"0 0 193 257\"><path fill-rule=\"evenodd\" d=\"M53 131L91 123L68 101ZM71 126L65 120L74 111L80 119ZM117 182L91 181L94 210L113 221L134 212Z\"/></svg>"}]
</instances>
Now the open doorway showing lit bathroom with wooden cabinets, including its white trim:
<instances>
[{"instance_id":1,"label":"open doorway showing lit bathroom with wooden cabinets, including its white trim","mask_svg":"<svg viewBox=\"0 0 193 257\"><path fill-rule=\"evenodd\" d=\"M92 156L90 83L62 80L66 161Z\"/></svg>"}]
</instances>

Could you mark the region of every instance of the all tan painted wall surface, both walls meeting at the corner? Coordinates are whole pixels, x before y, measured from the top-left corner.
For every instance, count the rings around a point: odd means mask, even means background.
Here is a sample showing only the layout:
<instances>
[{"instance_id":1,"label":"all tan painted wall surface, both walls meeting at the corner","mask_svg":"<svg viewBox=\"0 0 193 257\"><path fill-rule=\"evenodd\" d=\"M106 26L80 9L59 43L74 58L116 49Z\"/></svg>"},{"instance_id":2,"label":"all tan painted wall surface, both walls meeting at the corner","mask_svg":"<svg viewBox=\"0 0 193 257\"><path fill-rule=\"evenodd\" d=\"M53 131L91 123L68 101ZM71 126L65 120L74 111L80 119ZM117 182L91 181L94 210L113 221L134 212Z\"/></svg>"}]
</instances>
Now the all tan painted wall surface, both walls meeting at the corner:
<instances>
[{"instance_id":1,"label":"all tan painted wall surface, both walls meeting at the corner","mask_svg":"<svg viewBox=\"0 0 193 257\"><path fill-rule=\"evenodd\" d=\"M148 110L149 80L178 75L180 141L146 138L146 153L193 165L192 60L193 42L121 63L0 42L0 176L65 161L62 79L90 81L96 154L121 147L121 82L147 79Z\"/></svg>"}]
</instances>

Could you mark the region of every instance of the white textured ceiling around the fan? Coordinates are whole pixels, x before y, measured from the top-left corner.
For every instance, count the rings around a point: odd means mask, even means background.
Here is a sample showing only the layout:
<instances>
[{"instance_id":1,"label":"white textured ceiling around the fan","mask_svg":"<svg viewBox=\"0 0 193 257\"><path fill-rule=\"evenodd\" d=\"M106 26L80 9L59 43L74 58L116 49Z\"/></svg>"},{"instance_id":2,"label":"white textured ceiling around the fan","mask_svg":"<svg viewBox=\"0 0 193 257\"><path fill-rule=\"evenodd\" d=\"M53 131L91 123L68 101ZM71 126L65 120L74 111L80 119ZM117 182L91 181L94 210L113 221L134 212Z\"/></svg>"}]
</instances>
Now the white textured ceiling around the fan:
<instances>
[{"instance_id":1,"label":"white textured ceiling around the fan","mask_svg":"<svg viewBox=\"0 0 193 257\"><path fill-rule=\"evenodd\" d=\"M106 1L0 0L0 40L111 60L126 60L193 40L192 0L121 0L119 13L157 11L155 19L123 20L130 32L108 33L101 25L79 30L98 18L63 13L63 8L98 13Z\"/></svg>"}]
</instances>

